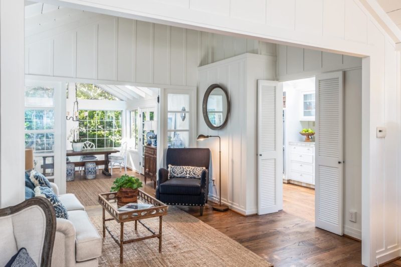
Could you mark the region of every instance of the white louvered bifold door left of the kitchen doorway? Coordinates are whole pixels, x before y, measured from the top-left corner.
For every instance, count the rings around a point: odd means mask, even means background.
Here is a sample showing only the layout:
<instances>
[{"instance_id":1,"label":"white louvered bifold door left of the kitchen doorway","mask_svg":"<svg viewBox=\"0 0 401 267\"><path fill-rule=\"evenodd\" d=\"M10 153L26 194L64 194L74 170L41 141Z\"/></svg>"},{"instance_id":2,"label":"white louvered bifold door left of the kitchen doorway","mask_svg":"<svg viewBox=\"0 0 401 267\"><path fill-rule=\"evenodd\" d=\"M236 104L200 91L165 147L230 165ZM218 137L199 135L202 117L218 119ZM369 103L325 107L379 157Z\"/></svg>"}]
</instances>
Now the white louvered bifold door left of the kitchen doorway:
<instances>
[{"instance_id":1,"label":"white louvered bifold door left of the kitchen doorway","mask_svg":"<svg viewBox=\"0 0 401 267\"><path fill-rule=\"evenodd\" d=\"M258 214L283 209L283 90L258 80Z\"/></svg>"}]
</instances>

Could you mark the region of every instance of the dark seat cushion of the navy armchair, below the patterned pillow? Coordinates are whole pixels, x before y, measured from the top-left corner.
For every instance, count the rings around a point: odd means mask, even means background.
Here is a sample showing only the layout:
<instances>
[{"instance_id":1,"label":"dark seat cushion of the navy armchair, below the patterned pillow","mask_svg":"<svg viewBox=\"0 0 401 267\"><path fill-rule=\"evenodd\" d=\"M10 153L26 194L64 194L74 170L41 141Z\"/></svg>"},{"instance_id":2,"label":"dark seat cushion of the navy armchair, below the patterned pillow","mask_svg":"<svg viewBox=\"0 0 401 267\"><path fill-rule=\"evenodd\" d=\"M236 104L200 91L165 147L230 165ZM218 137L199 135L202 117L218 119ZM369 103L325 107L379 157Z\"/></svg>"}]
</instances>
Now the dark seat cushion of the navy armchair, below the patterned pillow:
<instances>
[{"instance_id":1,"label":"dark seat cushion of the navy armchair, below the patterned pillow","mask_svg":"<svg viewBox=\"0 0 401 267\"><path fill-rule=\"evenodd\" d=\"M200 179L170 178L160 183L161 194L200 194Z\"/></svg>"}]
</instances>

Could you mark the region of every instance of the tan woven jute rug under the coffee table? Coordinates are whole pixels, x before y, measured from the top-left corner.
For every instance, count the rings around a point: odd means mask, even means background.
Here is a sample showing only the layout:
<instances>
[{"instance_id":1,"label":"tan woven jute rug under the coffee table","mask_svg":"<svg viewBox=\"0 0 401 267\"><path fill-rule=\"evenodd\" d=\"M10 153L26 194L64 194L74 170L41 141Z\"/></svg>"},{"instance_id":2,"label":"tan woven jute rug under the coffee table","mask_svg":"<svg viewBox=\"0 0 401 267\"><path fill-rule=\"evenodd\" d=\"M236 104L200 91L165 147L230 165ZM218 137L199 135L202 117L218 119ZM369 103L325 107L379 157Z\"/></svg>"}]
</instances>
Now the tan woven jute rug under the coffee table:
<instances>
[{"instance_id":1,"label":"tan woven jute rug under the coffee table","mask_svg":"<svg viewBox=\"0 0 401 267\"><path fill-rule=\"evenodd\" d=\"M106 212L107 214L107 212ZM107 217L107 215L106 215ZM91 217L99 233L101 216ZM143 220L158 231L159 219ZM119 236L120 225L106 221L112 232ZM150 232L138 223L124 223L124 238L146 236ZM120 248L106 231L103 239L100 266L120 265ZM200 221L177 207L169 206L163 216L162 252L158 252L158 238L124 244L124 263L121 266L273 266L237 241Z\"/></svg>"}]
</instances>

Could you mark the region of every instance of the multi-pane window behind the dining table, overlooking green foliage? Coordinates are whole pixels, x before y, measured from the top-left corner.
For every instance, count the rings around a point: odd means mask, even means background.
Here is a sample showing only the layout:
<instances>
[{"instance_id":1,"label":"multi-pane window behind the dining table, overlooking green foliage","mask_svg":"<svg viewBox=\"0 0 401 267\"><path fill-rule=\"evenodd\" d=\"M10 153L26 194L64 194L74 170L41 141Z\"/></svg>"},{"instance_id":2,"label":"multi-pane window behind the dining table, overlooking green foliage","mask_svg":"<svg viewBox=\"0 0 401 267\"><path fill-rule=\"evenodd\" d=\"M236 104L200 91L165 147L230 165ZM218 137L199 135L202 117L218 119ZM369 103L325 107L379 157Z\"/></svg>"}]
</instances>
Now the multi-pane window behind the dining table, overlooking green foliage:
<instances>
[{"instance_id":1,"label":"multi-pane window behind the dining table, overlooking green foliage","mask_svg":"<svg viewBox=\"0 0 401 267\"><path fill-rule=\"evenodd\" d=\"M120 147L121 114L121 110L79 110L79 127L86 129L80 131L79 138L93 142L96 148Z\"/></svg>"}]
</instances>

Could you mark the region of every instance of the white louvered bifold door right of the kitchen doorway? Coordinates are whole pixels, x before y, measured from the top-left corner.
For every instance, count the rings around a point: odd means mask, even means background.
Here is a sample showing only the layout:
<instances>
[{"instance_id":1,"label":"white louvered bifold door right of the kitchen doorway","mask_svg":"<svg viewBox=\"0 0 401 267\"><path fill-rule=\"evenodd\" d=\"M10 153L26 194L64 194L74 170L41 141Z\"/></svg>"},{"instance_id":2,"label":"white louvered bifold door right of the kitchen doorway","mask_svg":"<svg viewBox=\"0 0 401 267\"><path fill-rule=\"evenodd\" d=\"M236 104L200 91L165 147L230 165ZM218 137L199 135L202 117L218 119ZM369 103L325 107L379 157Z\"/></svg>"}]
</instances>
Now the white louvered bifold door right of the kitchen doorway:
<instances>
[{"instance_id":1,"label":"white louvered bifold door right of the kitchen doorway","mask_svg":"<svg viewBox=\"0 0 401 267\"><path fill-rule=\"evenodd\" d=\"M315 225L342 235L343 74L316 76Z\"/></svg>"}]
</instances>

